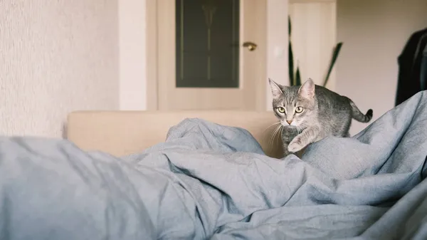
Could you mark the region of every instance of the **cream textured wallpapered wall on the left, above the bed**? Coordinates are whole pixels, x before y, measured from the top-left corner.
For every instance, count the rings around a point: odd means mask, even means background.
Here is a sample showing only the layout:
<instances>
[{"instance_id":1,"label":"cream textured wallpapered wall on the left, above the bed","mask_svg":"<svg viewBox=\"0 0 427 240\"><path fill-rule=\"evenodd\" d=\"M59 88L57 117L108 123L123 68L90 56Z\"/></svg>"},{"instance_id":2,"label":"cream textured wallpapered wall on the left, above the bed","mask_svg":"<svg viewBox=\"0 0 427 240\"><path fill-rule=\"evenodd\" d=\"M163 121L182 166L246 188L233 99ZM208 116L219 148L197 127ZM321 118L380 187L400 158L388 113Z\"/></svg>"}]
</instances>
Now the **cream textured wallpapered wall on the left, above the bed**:
<instances>
[{"instance_id":1,"label":"cream textured wallpapered wall on the left, above the bed","mask_svg":"<svg viewBox=\"0 0 427 240\"><path fill-rule=\"evenodd\" d=\"M117 0L0 0L0 135L119 108Z\"/></svg>"}]
</instances>

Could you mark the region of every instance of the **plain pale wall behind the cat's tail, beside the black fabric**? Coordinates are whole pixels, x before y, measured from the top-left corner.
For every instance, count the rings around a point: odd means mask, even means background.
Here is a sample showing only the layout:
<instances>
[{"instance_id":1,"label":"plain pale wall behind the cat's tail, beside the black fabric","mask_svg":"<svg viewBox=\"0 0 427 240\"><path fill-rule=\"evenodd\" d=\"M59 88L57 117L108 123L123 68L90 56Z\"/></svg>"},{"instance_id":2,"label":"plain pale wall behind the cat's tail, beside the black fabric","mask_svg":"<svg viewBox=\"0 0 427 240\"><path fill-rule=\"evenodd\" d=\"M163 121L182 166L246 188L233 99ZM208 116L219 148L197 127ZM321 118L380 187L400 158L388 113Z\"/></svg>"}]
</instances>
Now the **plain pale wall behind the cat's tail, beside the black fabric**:
<instances>
[{"instance_id":1,"label":"plain pale wall behind the cat's tail, beside the black fabric","mask_svg":"<svg viewBox=\"0 0 427 240\"><path fill-rule=\"evenodd\" d=\"M426 0L338 0L337 92L374 119L394 107L397 58L414 31L427 27ZM351 134L366 127L353 123Z\"/></svg>"}]
</instances>

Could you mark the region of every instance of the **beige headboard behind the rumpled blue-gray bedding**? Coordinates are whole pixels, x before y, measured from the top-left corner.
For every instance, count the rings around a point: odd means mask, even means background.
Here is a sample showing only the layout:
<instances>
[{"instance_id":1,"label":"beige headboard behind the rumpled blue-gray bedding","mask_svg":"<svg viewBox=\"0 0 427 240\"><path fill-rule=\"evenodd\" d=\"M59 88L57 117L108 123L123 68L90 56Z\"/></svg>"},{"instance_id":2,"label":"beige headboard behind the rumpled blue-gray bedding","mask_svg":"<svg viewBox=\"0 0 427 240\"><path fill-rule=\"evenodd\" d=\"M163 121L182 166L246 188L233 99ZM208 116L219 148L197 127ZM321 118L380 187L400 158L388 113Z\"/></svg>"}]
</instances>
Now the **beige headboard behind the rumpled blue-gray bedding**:
<instances>
[{"instance_id":1,"label":"beige headboard behind the rumpled blue-gray bedding","mask_svg":"<svg viewBox=\"0 0 427 240\"><path fill-rule=\"evenodd\" d=\"M221 125L243 127L260 142L267 155L282 157L280 137L270 143L275 129L270 125L277 122L271 112L77 111L68 115L67 137L83 150L101 150L120 157L164 142L169 128L185 118L202 118Z\"/></svg>"}]
</instances>

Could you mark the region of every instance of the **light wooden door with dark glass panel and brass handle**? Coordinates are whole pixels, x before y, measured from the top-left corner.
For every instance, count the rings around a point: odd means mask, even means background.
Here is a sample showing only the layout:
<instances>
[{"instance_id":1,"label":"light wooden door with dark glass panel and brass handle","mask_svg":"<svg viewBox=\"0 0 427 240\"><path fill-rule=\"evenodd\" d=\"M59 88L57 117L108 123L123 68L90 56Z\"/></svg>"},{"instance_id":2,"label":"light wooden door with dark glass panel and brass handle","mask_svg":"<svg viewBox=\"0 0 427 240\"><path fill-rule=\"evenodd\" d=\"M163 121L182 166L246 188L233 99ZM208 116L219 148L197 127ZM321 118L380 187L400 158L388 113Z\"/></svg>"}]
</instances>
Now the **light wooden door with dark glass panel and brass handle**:
<instances>
[{"instance_id":1,"label":"light wooden door with dark glass panel and brass handle","mask_svg":"<svg viewBox=\"0 0 427 240\"><path fill-rule=\"evenodd\" d=\"M266 1L158 0L159 110L264 110Z\"/></svg>"}]
</instances>

